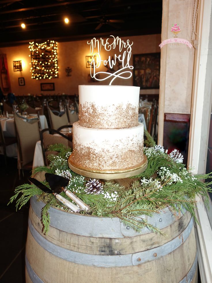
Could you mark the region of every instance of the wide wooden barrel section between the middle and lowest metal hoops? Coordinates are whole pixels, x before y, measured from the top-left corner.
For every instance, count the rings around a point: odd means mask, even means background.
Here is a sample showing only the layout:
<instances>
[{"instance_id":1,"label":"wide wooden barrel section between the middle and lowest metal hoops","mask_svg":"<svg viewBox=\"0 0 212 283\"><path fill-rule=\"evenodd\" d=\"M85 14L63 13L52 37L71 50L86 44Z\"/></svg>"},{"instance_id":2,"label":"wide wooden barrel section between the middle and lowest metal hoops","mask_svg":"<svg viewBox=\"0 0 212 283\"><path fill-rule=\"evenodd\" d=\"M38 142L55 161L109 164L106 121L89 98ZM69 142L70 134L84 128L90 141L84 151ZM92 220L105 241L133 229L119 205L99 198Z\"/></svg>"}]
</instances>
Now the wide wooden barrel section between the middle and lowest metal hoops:
<instances>
[{"instance_id":1,"label":"wide wooden barrel section between the middle and lowest metal hoops","mask_svg":"<svg viewBox=\"0 0 212 283\"><path fill-rule=\"evenodd\" d=\"M43 282L175 283L180 282L192 267L196 256L196 242L193 227L186 241L162 258L136 266L104 268L73 263L53 255L35 241L29 230L26 255L34 272Z\"/></svg>"}]
</instances>

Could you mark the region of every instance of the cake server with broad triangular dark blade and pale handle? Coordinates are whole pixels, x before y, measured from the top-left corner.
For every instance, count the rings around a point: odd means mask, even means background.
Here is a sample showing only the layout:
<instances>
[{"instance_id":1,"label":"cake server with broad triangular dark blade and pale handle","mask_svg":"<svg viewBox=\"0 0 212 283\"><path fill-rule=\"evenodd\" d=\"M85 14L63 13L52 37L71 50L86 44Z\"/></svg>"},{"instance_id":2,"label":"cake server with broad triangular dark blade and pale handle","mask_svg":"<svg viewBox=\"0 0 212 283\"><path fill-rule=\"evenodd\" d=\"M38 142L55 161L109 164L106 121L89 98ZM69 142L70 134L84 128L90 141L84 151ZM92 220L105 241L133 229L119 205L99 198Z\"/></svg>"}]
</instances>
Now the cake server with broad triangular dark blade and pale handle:
<instances>
[{"instance_id":1,"label":"cake server with broad triangular dark blade and pale handle","mask_svg":"<svg viewBox=\"0 0 212 283\"><path fill-rule=\"evenodd\" d=\"M61 192L65 192L65 194L69 196L69 198L71 198L77 205L79 205L79 207L81 207L83 211L89 211L90 206L86 205L86 203L84 203L80 198L78 198L75 194L73 194L66 188L70 181L69 179L51 173L46 173L45 177L52 191L58 194Z\"/></svg>"}]
</instances>

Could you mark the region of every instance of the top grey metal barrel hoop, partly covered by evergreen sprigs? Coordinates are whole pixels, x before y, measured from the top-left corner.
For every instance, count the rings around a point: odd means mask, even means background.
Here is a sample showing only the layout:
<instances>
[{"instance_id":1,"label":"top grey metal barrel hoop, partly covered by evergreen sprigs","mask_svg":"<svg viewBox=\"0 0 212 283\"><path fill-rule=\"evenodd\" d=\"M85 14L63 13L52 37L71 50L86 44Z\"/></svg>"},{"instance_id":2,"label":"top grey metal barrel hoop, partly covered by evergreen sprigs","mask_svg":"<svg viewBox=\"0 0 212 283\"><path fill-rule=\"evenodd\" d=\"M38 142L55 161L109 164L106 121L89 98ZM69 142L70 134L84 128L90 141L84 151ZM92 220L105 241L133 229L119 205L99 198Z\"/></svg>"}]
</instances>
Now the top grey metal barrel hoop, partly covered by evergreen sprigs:
<instances>
[{"instance_id":1,"label":"top grey metal barrel hoop, partly covered by evergreen sprigs","mask_svg":"<svg viewBox=\"0 0 212 283\"><path fill-rule=\"evenodd\" d=\"M41 209L44 207L44 205L45 204L42 202L37 202L36 197L31 198L31 207L39 218L41 218ZM62 210L52 207L50 207L49 213L51 218L50 225L52 227L63 230L67 233L73 233L81 236L95 238L124 238L150 233L147 228L142 229L141 233L137 233L133 229L127 229L126 226L120 223L119 218L103 218L93 215L80 214L77 215L75 213L66 213ZM182 211L182 214L184 213L185 210ZM176 221L175 216L169 210L169 208L165 208L160 214L155 213L153 217L146 217L145 215L143 216L150 224L156 226L158 229L163 229L167 226L170 226ZM64 221L61 222L61 219ZM72 225L69 225L70 221L72 222ZM60 226L58 227L59 224Z\"/></svg>"}]
</instances>

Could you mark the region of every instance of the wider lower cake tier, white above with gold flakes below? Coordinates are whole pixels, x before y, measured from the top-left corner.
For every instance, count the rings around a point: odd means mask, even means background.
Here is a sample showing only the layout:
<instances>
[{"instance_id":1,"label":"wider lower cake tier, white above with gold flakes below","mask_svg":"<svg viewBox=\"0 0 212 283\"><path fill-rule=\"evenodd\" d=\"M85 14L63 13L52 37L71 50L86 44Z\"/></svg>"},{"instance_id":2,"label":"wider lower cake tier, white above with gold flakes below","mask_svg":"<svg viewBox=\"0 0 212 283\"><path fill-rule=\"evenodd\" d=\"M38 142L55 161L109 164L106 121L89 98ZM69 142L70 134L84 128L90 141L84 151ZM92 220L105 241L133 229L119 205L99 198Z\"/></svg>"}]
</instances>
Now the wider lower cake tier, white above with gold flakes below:
<instances>
[{"instance_id":1,"label":"wider lower cake tier, white above with gold flakes below","mask_svg":"<svg viewBox=\"0 0 212 283\"><path fill-rule=\"evenodd\" d=\"M143 163L143 124L124 129L93 129L73 124L69 161L85 170L129 170Z\"/></svg>"}]
</instances>

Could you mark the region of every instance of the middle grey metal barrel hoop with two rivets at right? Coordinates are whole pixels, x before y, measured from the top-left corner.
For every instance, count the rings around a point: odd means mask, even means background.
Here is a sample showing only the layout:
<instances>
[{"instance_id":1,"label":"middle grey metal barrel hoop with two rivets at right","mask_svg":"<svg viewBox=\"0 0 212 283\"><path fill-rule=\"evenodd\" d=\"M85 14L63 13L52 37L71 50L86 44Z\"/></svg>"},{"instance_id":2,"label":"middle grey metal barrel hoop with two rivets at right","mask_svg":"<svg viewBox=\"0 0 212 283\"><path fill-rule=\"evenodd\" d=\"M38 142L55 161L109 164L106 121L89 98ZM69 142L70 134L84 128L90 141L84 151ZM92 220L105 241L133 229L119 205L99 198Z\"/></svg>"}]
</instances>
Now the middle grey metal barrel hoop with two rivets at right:
<instances>
[{"instance_id":1,"label":"middle grey metal barrel hoop with two rivets at right","mask_svg":"<svg viewBox=\"0 0 212 283\"><path fill-rule=\"evenodd\" d=\"M124 255L94 255L94 254L86 254L81 252L75 252L71 250L67 250L65 248L59 247L50 241L46 240L39 232L34 228L31 220L29 219L29 230L34 237L35 241L45 250L50 252L51 254L63 258L69 262L88 265L88 266L96 266L96 267L124 267L124 266L132 266L139 265L141 263L145 263L147 261L158 259L166 254L169 254L176 250L186 239L189 237L191 230L193 228L193 219L190 220L188 226L181 233L182 237L175 237L173 240L165 243L162 246L143 251L137 252L133 254L124 254ZM157 254L157 256L155 256ZM140 258L140 260L138 260Z\"/></svg>"}]
</instances>

